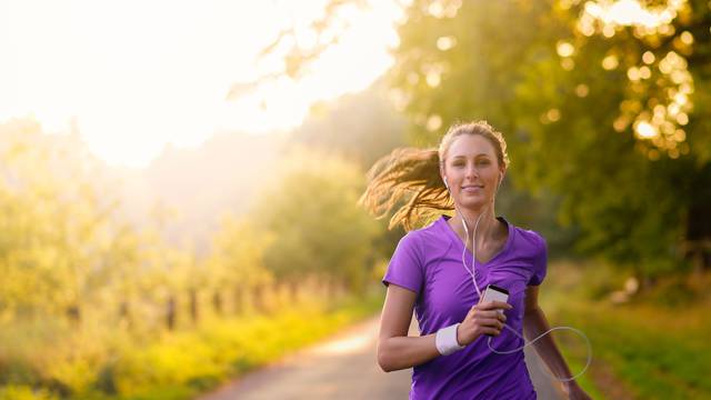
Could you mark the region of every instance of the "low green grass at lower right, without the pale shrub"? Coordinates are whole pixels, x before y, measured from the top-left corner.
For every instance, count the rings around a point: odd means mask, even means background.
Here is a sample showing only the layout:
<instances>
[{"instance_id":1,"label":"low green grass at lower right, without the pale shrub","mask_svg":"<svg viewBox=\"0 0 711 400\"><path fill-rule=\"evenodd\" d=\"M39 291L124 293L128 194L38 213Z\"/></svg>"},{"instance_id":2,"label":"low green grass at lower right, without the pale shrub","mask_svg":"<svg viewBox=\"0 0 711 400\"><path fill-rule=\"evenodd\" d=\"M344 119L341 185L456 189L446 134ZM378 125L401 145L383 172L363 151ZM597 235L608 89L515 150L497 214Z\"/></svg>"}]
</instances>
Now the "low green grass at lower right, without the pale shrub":
<instances>
[{"instance_id":1,"label":"low green grass at lower right, without the pale shrub","mask_svg":"<svg viewBox=\"0 0 711 400\"><path fill-rule=\"evenodd\" d=\"M711 327L687 328L689 324L680 321L672 330L662 321L695 319L694 313L702 312L701 307L684 308L680 313L679 309L567 302L558 318L585 331L594 343L595 358L610 364L639 398L700 399L711 396L705 379L711 349L702 339ZM574 346L572 341L569 344ZM574 353L580 354L580 349Z\"/></svg>"}]
</instances>

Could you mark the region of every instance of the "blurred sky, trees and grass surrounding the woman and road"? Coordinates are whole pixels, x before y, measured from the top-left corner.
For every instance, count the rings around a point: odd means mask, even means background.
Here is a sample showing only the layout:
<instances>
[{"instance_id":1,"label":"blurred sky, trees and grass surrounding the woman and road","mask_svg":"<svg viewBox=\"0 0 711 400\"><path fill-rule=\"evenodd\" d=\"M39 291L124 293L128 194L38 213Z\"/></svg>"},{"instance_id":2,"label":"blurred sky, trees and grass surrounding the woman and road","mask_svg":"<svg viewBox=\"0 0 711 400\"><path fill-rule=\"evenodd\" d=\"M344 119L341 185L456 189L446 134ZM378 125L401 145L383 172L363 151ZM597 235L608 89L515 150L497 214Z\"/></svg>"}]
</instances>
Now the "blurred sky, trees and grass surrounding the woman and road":
<instances>
[{"instance_id":1,"label":"blurred sky, trees and grass surrounding the woman and road","mask_svg":"<svg viewBox=\"0 0 711 400\"><path fill-rule=\"evenodd\" d=\"M708 0L0 0L0 399L194 398L377 317L365 172L478 119L581 384L711 398Z\"/></svg>"}]
</instances>

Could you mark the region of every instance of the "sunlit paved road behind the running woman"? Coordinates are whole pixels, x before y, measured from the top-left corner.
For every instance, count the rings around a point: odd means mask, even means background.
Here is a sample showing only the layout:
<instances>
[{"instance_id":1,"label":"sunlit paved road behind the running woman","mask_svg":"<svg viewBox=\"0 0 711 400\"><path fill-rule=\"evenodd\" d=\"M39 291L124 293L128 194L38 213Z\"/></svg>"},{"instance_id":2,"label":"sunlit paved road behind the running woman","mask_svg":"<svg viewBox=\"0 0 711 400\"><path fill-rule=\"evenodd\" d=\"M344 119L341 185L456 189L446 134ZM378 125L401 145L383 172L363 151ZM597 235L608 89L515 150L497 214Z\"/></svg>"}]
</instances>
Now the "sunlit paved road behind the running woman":
<instances>
[{"instance_id":1,"label":"sunlit paved road behind the running woman","mask_svg":"<svg viewBox=\"0 0 711 400\"><path fill-rule=\"evenodd\" d=\"M379 322L379 316L371 318L199 400L407 399L412 369L385 373L375 361ZM414 319L409 334L419 334ZM539 399L563 399L534 351L525 361Z\"/></svg>"}]
</instances>

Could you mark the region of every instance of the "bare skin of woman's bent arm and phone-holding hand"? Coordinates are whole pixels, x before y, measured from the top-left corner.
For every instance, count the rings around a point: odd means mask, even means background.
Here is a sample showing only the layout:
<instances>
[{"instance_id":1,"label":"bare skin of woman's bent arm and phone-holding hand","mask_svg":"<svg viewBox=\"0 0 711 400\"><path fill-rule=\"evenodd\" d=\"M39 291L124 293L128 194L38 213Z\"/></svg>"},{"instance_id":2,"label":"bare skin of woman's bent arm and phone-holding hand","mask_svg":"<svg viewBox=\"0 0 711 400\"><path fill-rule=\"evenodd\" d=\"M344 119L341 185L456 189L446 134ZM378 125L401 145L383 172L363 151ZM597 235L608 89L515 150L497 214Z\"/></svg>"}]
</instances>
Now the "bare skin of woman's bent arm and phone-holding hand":
<instances>
[{"instance_id":1,"label":"bare skin of woman's bent arm and phone-holding hand","mask_svg":"<svg viewBox=\"0 0 711 400\"><path fill-rule=\"evenodd\" d=\"M440 356L434 344L437 333L408 337L415 299L417 293L409 289L388 286L378 338L378 364L385 372L412 368ZM457 330L458 342L467 346L481 334L501 333L505 316L495 310L510 307L498 301L472 307Z\"/></svg>"}]
</instances>

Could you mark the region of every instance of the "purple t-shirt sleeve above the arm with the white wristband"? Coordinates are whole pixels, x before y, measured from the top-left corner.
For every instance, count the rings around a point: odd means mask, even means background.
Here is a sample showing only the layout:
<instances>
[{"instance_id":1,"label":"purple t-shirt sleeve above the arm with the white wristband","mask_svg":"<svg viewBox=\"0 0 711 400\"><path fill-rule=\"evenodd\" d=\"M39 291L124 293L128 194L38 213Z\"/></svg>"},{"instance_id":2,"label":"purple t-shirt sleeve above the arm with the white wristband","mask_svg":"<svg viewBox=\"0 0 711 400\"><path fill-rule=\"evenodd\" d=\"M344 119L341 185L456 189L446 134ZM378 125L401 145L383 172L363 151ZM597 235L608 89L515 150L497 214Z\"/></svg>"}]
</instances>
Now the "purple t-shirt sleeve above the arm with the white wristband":
<instances>
[{"instance_id":1,"label":"purple t-shirt sleeve above the arm with the white wristband","mask_svg":"<svg viewBox=\"0 0 711 400\"><path fill-rule=\"evenodd\" d=\"M385 287L394 283L420 294L424 282L421 256L417 237L413 232L408 232L398 242L398 247L382 278L382 283Z\"/></svg>"}]
</instances>

